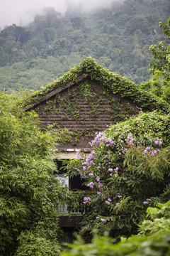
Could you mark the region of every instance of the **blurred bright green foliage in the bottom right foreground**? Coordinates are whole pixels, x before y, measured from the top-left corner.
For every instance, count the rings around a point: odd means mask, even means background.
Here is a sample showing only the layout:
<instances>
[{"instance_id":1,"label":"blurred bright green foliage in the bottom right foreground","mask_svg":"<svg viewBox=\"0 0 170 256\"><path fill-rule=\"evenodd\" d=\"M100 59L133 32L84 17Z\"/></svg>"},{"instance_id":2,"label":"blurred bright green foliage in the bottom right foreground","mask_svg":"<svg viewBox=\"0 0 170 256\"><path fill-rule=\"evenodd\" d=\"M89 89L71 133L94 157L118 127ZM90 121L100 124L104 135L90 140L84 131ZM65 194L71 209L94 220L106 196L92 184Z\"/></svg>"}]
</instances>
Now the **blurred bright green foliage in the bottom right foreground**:
<instances>
[{"instance_id":1,"label":"blurred bright green foliage in the bottom right foreground","mask_svg":"<svg viewBox=\"0 0 170 256\"><path fill-rule=\"evenodd\" d=\"M83 244L77 240L69 245L72 250L63 252L62 256L169 256L170 254L170 201L157 204L157 208L147 208L151 220L144 220L138 235L121 238L115 243L111 238L95 235L91 244Z\"/></svg>"}]
</instances>

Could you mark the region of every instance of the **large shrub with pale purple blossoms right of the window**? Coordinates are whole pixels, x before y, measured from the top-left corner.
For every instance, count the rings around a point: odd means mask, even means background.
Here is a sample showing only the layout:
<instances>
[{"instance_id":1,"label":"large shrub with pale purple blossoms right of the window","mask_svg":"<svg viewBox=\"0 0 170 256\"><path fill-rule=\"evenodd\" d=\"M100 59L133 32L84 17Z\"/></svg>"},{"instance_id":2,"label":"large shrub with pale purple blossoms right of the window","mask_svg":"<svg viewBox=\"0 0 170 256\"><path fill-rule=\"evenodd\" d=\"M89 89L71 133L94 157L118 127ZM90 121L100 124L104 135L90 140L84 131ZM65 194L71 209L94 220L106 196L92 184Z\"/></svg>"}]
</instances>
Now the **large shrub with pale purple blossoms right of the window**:
<instances>
[{"instance_id":1,"label":"large shrub with pale purple blossoms right of the window","mask_svg":"<svg viewBox=\"0 0 170 256\"><path fill-rule=\"evenodd\" d=\"M152 136L144 141L116 129L112 137L99 132L90 154L79 153L69 162L68 174L81 176L90 188L85 192L89 198L86 229L110 230L113 236L135 233L146 207L168 198L169 147L162 141Z\"/></svg>"}]
</instances>

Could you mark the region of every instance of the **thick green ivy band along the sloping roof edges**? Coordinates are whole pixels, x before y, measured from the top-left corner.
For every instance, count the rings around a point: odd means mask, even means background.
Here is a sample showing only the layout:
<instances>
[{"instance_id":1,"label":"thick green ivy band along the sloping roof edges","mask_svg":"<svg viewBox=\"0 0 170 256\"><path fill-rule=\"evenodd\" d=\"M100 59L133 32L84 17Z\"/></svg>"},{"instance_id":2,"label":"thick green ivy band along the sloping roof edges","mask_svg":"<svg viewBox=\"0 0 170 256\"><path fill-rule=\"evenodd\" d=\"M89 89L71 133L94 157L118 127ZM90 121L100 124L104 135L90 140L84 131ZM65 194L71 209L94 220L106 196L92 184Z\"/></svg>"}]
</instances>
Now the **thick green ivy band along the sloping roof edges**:
<instances>
[{"instance_id":1,"label":"thick green ivy band along the sloping roof edges","mask_svg":"<svg viewBox=\"0 0 170 256\"><path fill-rule=\"evenodd\" d=\"M81 63L65 73L62 77L48 84L46 87L42 87L33 95L31 103L42 100L47 92L54 90L57 86L61 86L62 89L64 89L68 82L77 82L77 78L80 74L99 82L103 88L103 92L107 94L109 92L119 94L121 97L129 97L133 102L137 103L137 105L140 105L140 107L149 107L154 110L157 109L169 112L169 104L167 102L164 102L164 100L151 92L142 90L135 82L130 81L128 78L124 78L117 73L109 72L106 68L103 68L102 65L96 63L96 60L91 57L81 60Z\"/></svg>"}]
</instances>

